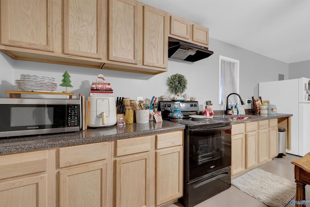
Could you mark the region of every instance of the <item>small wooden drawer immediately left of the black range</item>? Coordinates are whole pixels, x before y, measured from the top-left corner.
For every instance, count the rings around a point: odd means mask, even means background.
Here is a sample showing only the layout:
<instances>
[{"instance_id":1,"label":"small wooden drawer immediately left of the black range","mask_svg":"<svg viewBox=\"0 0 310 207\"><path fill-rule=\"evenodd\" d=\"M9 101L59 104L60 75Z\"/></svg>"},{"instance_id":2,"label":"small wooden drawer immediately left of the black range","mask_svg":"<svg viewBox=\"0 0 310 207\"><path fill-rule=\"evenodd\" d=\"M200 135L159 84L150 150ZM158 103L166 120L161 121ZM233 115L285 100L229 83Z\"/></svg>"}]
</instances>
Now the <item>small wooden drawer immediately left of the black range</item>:
<instances>
[{"instance_id":1,"label":"small wooden drawer immediately left of the black range","mask_svg":"<svg viewBox=\"0 0 310 207\"><path fill-rule=\"evenodd\" d=\"M156 149L183 144L183 131L173 131L165 134L156 135Z\"/></svg>"}]
</instances>

